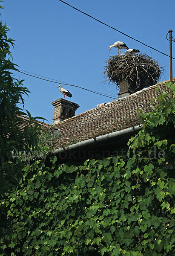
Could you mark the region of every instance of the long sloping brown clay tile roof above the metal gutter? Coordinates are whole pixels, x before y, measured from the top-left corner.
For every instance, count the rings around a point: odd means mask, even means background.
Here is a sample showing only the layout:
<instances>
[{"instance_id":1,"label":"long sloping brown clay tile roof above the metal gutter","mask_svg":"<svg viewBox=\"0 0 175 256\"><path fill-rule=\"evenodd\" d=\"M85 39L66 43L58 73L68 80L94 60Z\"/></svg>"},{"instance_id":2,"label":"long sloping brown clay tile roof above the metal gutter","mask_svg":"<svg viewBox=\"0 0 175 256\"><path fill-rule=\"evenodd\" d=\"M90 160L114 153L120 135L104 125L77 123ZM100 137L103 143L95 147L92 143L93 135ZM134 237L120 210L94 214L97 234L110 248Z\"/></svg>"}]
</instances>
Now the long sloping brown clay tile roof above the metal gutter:
<instances>
[{"instance_id":1,"label":"long sloping brown clay tile roof above the metal gutter","mask_svg":"<svg viewBox=\"0 0 175 256\"><path fill-rule=\"evenodd\" d=\"M158 85L161 89L170 92L165 82ZM152 85L124 99L114 100L54 125L54 128L60 129L61 135L56 148L140 125L138 110L143 109L145 112L152 110L149 101L159 95L159 92L155 92L156 87L157 85Z\"/></svg>"}]
</instances>

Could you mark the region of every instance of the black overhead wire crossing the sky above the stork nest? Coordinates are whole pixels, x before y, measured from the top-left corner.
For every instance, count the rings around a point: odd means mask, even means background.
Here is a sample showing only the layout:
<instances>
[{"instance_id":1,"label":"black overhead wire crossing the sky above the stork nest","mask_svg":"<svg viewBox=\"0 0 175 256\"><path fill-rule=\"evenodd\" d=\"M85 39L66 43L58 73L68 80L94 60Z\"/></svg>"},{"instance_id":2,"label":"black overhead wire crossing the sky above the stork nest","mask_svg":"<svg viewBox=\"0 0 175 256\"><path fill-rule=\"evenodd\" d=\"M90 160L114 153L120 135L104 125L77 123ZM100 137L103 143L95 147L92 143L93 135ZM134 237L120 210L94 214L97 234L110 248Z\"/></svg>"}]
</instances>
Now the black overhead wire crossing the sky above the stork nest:
<instances>
[{"instance_id":1,"label":"black overhead wire crossing the sky above the stork nest","mask_svg":"<svg viewBox=\"0 0 175 256\"><path fill-rule=\"evenodd\" d=\"M166 53L164 53L164 52L161 52L161 51L159 51L159 50L157 50L157 49L155 49L155 48L153 48L153 47L151 47L151 46L149 46L149 45L147 45L147 44L144 44L143 42L141 42L141 41L139 41L139 40L137 40L137 39L135 39L135 38L133 38L133 37L131 37L131 36L129 36L129 35L123 33L123 32L121 32L121 31L118 30L118 29L115 29L115 28L112 27L112 26L109 26L108 24L104 23L103 21L98 20L98 19L96 19L95 17L92 17L91 15L87 14L86 12L83 12L83 11L77 9L76 7L70 5L69 3L66 3L66 2L64 2L64 1L62 1L62 0L58 0L58 1L60 1L60 2L62 2L62 3L65 3L66 5L72 7L73 9L77 10L78 12L81 12L81 13L83 13L84 15L86 15L86 16L88 16L88 17L90 17L90 18L92 18L92 19L94 19L94 20L96 20L96 21L102 23L103 25L108 26L109 28L114 29L115 31L117 31L117 32L119 32L119 33L121 33L121 34L123 34L123 35L126 35L127 37L129 37L129 38L131 38L131 39L133 39L133 40L135 40L135 41L137 41L137 42L139 42L139 43L145 45L146 47L149 47L149 48L151 48L151 49L153 49L153 50L155 50L155 51L157 51L157 52L160 52L161 54L164 54L164 55L170 57L168 54L166 54ZM173 58L173 57L170 57L170 58ZM173 59L175 60L175 58L173 58Z\"/></svg>"}]
</instances>

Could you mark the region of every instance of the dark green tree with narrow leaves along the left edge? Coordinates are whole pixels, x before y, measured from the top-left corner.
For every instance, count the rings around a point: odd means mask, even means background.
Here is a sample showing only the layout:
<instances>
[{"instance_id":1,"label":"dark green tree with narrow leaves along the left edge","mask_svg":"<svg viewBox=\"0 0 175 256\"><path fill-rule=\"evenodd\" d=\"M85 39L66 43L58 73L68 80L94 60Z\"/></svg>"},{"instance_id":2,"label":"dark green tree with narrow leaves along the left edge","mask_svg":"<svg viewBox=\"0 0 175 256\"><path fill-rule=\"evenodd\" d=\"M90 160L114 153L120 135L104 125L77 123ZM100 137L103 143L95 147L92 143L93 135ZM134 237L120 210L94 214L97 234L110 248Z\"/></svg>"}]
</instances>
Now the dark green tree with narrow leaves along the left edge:
<instances>
[{"instance_id":1,"label":"dark green tree with narrow leaves along the left edge","mask_svg":"<svg viewBox=\"0 0 175 256\"><path fill-rule=\"evenodd\" d=\"M29 111L23 112L23 96L29 90L23 87L23 80L12 77L11 71L17 70L17 65L11 61L10 47L14 46L14 40L7 37L8 31L9 27L0 22L0 194L17 184L15 173L21 170L21 163L17 165L11 151L30 151L31 146L37 145L38 134L34 122L37 117L32 118ZM23 125L21 114L29 116L28 125ZM25 127L23 130L21 125Z\"/></svg>"}]
</instances>

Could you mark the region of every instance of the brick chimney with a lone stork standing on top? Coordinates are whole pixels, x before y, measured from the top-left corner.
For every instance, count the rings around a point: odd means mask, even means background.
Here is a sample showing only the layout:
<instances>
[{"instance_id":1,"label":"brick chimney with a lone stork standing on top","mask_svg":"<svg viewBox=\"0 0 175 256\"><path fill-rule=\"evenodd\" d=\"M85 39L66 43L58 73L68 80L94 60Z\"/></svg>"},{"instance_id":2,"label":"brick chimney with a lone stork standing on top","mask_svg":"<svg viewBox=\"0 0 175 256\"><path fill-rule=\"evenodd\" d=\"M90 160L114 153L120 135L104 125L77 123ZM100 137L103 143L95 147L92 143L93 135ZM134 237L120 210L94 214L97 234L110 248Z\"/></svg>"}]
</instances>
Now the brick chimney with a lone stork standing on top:
<instances>
[{"instance_id":1,"label":"brick chimney with a lone stork standing on top","mask_svg":"<svg viewBox=\"0 0 175 256\"><path fill-rule=\"evenodd\" d=\"M75 111L80 107L77 103L62 98L52 102L52 105L55 107L52 125L56 125L69 117L75 116Z\"/></svg>"}]
</instances>

